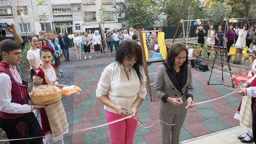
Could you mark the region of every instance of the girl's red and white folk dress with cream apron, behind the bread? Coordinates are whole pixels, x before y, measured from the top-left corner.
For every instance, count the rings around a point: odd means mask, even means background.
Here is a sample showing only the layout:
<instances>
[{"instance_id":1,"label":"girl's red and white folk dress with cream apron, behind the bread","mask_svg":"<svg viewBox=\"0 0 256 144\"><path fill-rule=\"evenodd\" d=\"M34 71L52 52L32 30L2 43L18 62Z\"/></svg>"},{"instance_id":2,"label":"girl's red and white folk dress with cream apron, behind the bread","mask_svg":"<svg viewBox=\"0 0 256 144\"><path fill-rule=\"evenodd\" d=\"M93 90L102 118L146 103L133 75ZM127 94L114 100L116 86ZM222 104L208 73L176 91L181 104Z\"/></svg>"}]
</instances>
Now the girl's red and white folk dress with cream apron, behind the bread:
<instances>
[{"instance_id":1,"label":"girl's red and white folk dress with cream apron, behind the bread","mask_svg":"<svg viewBox=\"0 0 256 144\"><path fill-rule=\"evenodd\" d=\"M34 87L40 85L57 85L55 75L55 66L50 63L49 68L39 66L33 75ZM43 135L51 133L53 135L53 141L63 140L63 135L68 132L68 123L66 114L61 103L61 100L54 104L49 104L45 108L40 109L41 123L43 129ZM54 135L62 133L61 135ZM44 139L44 143L49 140L51 136L47 136Z\"/></svg>"}]
</instances>

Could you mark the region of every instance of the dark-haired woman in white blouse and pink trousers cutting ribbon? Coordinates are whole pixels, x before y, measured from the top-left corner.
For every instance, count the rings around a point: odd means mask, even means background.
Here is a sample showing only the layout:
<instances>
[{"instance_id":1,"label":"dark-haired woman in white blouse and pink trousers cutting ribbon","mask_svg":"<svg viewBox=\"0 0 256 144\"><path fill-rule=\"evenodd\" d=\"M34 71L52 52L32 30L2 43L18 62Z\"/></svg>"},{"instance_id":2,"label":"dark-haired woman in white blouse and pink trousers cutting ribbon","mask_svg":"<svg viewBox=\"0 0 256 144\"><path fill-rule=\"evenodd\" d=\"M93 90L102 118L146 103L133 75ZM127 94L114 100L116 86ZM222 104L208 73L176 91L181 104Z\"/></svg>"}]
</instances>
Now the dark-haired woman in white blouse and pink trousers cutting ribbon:
<instances>
[{"instance_id":1,"label":"dark-haired woman in white blouse and pink trousers cutting ribbon","mask_svg":"<svg viewBox=\"0 0 256 144\"><path fill-rule=\"evenodd\" d=\"M99 79L96 97L104 104L106 121L128 115L138 117L138 108L145 99L146 76L142 50L134 40L124 40L116 51L116 60L109 64ZM132 144L137 121L128 118L108 125L111 144Z\"/></svg>"}]
</instances>

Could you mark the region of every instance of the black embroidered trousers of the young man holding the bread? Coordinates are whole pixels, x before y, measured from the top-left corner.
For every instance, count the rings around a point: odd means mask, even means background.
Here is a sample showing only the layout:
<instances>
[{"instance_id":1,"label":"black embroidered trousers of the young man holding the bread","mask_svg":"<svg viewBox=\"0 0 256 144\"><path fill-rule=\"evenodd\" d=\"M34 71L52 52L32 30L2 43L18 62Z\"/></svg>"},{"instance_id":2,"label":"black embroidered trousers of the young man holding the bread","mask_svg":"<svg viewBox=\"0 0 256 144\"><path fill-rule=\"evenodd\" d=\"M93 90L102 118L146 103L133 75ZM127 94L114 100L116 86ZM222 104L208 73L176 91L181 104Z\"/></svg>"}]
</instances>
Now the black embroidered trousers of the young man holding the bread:
<instances>
[{"instance_id":1,"label":"black embroidered trousers of the young man holding the bread","mask_svg":"<svg viewBox=\"0 0 256 144\"><path fill-rule=\"evenodd\" d=\"M43 136L42 129L34 112L26 113L20 118L0 118L0 127L6 132L8 139L32 138ZM43 137L9 141L11 144L42 144Z\"/></svg>"}]
</instances>

